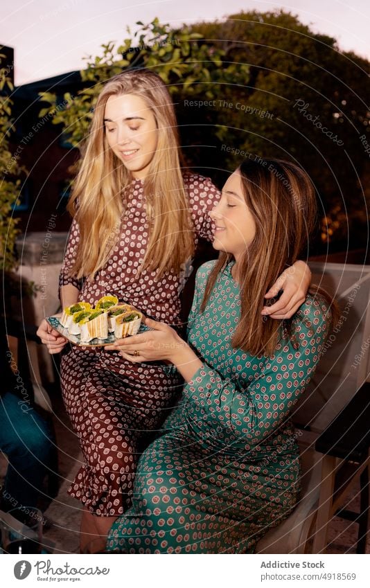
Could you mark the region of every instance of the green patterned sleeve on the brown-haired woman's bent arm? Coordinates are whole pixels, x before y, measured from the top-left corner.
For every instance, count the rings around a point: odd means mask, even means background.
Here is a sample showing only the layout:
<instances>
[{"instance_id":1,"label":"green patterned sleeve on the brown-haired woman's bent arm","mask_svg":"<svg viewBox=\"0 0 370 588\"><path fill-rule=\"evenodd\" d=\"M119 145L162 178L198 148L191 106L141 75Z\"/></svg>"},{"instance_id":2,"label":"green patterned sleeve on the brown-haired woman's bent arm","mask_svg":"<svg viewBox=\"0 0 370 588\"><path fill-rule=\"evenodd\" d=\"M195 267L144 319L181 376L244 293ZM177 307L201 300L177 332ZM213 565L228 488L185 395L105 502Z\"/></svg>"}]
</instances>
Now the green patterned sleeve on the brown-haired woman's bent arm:
<instances>
[{"instance_id":1,"label":"green patterned sleeve on the brown-haired woman's bent arm","mask_svg":"<svg viewBox=\"0 0 370 588\"><path fill-rule=\"evenodd\" d=\"M294 340L284 340L272 357L261 359L261 371L245 389L203 364L184 387L184 395L209 427L229 429L230 438L243 436L249 448L254 447L292 412L319 362L327 330L324 301L310 297L294 318Z\"/></svg>"}]
</instances>

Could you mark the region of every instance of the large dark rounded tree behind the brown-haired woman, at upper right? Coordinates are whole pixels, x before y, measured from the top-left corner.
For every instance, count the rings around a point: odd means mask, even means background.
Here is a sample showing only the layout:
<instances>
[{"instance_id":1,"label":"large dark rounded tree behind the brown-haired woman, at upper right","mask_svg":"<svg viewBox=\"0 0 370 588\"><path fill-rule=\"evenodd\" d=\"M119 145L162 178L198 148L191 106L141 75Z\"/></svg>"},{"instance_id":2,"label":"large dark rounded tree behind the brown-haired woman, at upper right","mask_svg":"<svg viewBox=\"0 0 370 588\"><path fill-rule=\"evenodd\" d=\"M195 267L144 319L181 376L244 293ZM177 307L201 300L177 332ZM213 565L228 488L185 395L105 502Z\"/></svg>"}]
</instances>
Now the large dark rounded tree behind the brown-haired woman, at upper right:
<instances>
[{"instance_id":1,"label":"large dark rounded tree behind the brown-haired woman, at upper right","mask_svg":"<svg viewBox=\"0 0 370 588\"><path fill-rule=\"evenodd\" d=\"M365 244L370 161L360 137L370 142L369 62L341 53L335 39L312 33L282 10L242 12L191 30L222 48L230 62L249 66L249 109L236 109L234 101L218 136L247 154L297 161L319 194L321 241ZM227 166L233 163L231 154ZM354 231L359 222L362 234Z\"/></svg>"}]
</instances>

